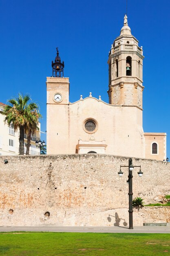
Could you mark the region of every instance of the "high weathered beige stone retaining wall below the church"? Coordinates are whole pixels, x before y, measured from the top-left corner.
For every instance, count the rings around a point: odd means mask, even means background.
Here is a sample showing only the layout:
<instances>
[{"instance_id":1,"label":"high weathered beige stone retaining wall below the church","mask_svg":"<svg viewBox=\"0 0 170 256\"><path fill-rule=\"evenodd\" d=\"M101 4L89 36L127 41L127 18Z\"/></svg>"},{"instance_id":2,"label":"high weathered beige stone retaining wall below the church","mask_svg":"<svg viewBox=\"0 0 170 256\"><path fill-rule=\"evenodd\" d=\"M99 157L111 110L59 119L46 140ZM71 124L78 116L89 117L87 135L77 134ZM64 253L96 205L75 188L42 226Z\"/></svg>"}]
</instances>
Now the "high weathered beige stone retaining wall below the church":
<instances>
[{"instance_id":1,"label":"high weathered beige stone retaining wall below the church","mask_svg":"<svg viewBox=\"0 0 170 256\"><path fill-rule=\"evenodd\" d=\"M4 159L8 160L4 164ZM133 159L134 197L146 204L170 194L170 163ZM128 225L128 158L113 155L41 155L0 157L1 225ZM169 208L134 212L134 225L166 222ZM9 211L12 209L13 211ZM167 210L168 209L168 210ZM44 213L49 212L49 215ZM151 217L149 217L151 216ZM147 221L146 221L147 220Z\"/></svg>"}]
</instances>

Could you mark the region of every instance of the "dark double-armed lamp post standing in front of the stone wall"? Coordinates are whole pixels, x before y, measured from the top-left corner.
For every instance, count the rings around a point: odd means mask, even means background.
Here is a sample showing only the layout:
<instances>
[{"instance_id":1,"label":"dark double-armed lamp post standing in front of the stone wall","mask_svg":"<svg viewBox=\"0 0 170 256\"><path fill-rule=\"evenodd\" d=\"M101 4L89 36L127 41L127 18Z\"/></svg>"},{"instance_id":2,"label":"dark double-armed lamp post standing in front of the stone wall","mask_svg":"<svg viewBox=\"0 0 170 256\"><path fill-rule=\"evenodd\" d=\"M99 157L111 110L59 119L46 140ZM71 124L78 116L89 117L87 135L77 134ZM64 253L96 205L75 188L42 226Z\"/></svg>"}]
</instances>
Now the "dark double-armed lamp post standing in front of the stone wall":
<instances>
[{"instance_id":1,"label":"dark double-armed lamp post standing in front of the stone wall","mask_svg":"<svg viewBox=\"0 0 170 256\"><path fill-rule=\"evenodd\" d=\"M132 158L129 158L129 165L128 166L123 166L121 165L120 166L120 171L118 172L119 176L122 176L123 175L123 172L121 171L121 167L128 167L129 168L129 175L128 175L128 180L127 182L129 183L129 229L133 229L133 207L132 207L132 195L133 195L133 192L132 192L132 171L134 169L134 167L140 167L140 171L138 172L139 176L141 177L142 176L142 171L141 171L141 166L133 166L132 164Z\"/></svg>"}]
</instances>

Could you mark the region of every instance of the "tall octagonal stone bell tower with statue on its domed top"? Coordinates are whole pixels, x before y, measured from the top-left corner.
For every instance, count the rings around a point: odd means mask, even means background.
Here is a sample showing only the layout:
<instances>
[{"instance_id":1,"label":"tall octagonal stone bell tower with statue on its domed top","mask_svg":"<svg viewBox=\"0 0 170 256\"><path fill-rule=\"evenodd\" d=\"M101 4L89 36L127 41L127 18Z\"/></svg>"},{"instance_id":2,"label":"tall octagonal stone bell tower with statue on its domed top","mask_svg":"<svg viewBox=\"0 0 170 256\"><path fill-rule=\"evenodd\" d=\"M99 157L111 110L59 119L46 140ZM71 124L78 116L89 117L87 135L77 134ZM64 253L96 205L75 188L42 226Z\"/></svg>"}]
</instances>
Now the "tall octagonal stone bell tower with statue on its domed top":
<instances>
[{"instance_id":1,"label":"tall octagonal stone bell tower with statue on its domed top","mask_svg":"<svg viewBox=\"0 0 170 256\"><path fill-rule=\"evenodd\" d=\"M142 110L143 49L132 36L127 16L124 26L109 52L109 103L121 106L136 106Z\"/></svg>"}]
</instances>

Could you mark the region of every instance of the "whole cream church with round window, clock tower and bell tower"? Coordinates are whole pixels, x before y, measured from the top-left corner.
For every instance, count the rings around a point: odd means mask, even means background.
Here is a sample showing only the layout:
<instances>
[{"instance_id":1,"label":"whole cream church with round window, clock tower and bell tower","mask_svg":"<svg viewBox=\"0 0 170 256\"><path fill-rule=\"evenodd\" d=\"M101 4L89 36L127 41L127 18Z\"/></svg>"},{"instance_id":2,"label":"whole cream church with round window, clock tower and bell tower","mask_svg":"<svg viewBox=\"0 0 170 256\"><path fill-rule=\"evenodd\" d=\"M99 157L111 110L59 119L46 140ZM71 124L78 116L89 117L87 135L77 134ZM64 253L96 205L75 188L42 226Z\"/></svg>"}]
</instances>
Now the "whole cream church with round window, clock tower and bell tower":
<instances>
[{"instance_id":1,"label":"whole cream church with round window, clock tower and bell tower","mask_svg":"<svg viewBox=\"0 0 170 256\"><path fill-rule=\"evenodd\" d=\"M108 56L108 103L93 95L69 101L69 78L57 49L53 76L47 77L47 154L109 154L166 159L166 133L142 125L143 49L127 16ZM106 88L107 89L107 88Z\"/></svg>"}]
</instances>

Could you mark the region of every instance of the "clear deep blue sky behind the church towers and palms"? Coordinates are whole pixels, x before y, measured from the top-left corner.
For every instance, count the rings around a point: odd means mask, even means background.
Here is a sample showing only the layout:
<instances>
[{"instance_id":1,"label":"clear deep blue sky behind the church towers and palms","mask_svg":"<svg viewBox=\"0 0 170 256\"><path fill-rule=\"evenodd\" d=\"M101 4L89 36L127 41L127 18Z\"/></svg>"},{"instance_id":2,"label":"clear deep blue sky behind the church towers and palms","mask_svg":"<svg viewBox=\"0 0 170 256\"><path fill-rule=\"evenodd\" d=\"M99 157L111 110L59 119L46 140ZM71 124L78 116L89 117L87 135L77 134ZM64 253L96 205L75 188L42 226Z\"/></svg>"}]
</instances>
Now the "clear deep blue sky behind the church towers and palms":
<instances>
[{"instance_id":1,"label":"clear deep blue sky behind the church towers and palms","mask_svg":"<svg viewBox=\"0 0 170 256\"><path fill-rule=\"evenodd\" d=\"M0 0L0 101L29 93L40 105L45 132L45 82L59 47L70 101L92 92L108 102L108 52L125 13L126 0ZM170 158L169 18L168 0L128 0L128 25L145 56L144 131L167 132Z\"/></svg>"}]
</instances>

